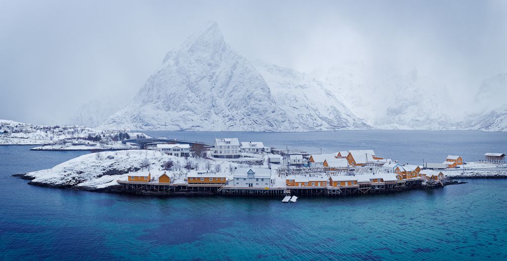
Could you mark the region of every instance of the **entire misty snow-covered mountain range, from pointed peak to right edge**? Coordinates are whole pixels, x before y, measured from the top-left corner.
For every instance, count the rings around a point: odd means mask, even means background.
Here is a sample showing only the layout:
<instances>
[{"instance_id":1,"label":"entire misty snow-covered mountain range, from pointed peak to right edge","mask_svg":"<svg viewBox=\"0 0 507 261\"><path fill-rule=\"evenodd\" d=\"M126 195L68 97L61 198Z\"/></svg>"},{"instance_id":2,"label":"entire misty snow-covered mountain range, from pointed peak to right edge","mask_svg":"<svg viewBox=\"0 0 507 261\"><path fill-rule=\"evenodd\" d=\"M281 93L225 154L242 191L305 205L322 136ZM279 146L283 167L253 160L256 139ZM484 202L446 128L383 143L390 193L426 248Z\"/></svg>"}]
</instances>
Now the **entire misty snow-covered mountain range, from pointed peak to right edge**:
<instances>
[{"instance_id":1,"label":"entire misty snow-covered mountain range, from pointed peak to right edge","mask_svg":"<svg viewBox=\"0 0 507 261\"><path fill-rule=\"evenodd\" d=\"M207 23L101 128L192 131L474 129L507 131L506 74L484 81L466 110L438 80L360 62L311 75L248 61ZM474 94L470 94L474 95ZM459 102L459 101L458 101ZM86 110L85 110L86 111ZM84 113L86 114L86 112ZM91 113L95 115L96 113ZM80 115L83 122L100 117Z\"/></svg>"}]
</instances>

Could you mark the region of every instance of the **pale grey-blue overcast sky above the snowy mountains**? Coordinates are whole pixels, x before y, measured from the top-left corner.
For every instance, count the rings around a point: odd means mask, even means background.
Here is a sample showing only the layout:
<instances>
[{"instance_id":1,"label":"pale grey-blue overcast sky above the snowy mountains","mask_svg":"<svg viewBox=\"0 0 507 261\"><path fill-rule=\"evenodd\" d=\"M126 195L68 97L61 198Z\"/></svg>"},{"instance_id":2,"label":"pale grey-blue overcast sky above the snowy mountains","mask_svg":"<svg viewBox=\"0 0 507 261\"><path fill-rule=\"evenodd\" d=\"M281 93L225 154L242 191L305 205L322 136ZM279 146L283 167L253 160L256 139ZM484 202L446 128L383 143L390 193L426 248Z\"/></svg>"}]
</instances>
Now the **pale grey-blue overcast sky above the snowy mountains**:
<instances>
[{"instance_id":1,"label":"pale grey-blue overcast sky above the snowy mountains","mask_svg":"<svg viewBox=\"0 0 507 261\"><path fill-rule=\"evenodd\" d=\"M507 1L0 0L0 119L55 124L91 99L124 106L210 20L246 58L303 72L389 63L474 94L507 72Z\"/></svg>"}]
</instances>

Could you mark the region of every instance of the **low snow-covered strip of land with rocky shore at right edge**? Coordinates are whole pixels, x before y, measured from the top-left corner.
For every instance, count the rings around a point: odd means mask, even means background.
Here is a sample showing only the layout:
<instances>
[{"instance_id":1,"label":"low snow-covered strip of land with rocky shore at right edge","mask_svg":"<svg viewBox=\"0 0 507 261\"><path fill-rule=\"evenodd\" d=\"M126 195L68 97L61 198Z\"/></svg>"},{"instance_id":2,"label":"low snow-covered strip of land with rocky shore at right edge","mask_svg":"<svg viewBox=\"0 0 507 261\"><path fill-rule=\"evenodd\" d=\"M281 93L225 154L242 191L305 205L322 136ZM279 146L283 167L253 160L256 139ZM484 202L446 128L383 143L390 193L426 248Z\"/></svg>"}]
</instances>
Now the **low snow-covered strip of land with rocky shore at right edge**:
<instances>
[{"instance_id":1,"label":"low snow-covered strip of land with rocky shore at right edge","mask_svg":"<svg viewBox=\"0 0 507 261\"><path fill-rule=\"evenodd\" d=\"M459 169L442 171L448 178L494 178L507 177L507 163L467 162Z\"/></svg>"}]
</instances>

